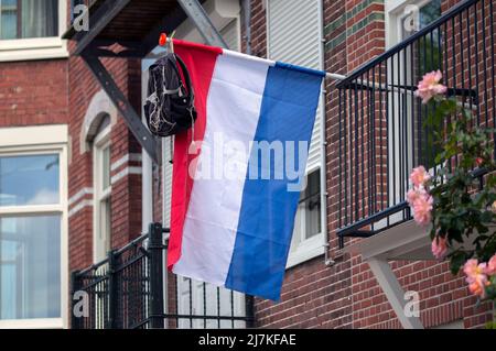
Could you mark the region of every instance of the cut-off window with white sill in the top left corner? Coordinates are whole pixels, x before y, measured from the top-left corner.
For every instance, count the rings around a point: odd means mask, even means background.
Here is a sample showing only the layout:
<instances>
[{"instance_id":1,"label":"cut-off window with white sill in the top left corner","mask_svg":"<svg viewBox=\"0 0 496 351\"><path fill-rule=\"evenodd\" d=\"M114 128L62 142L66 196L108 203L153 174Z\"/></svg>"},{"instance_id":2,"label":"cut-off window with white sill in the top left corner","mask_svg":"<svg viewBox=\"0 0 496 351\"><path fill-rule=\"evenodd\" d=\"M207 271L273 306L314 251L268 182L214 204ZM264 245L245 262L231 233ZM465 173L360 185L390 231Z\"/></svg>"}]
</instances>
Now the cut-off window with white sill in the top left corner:
<instances>
[{"instance_id":1,"label":"cut-off window with white sill in the top left corner","mask_svg":"<svg viewBox=\"0 0 496 351\"><path fill-rule=\"evenodd\" d=\"M67 56L65 0L0 0L0 61Z\"/></svg>"}]
</instances>

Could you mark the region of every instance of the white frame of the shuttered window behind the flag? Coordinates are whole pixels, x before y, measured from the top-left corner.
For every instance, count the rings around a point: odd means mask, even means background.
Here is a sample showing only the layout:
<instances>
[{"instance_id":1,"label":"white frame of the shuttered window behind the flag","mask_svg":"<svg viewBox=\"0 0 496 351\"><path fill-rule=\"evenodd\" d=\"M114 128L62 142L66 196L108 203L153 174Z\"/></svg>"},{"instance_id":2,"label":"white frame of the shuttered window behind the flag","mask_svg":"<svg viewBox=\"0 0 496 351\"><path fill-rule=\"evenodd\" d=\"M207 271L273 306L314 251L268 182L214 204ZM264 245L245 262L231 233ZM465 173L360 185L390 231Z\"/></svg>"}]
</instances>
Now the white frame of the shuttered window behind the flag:
<instances>
[{"instance_id":1,"label":"white frame of the shuttered window behind the flag","mask_svg":"<svg viewBox=\"0 0 496 351\"><path fill-rule=\"evenodd\" d=\"M271 0L265 0L263 1L263 6L266 7L266 42L267 42L267 55L269 56L270 53L270 7L269 7L269 1ZM319 28L320 28L320 56L321 56L321 67L319 67L320 69L324 70L324 15L323 15L323 2L322 0L319 0ZM289 45L295 45L295 43L288 43ZM268 57L269 59L271 59L272 57ZM325 95L324 91L322 91L321 94L321 113L316 117L321 119L321 142L325 141ZM294 267L299 264L302 264L306 261L310 261L312 259L315 259L320 255L323 255L325 253L325 249L326 249L326 230L327 230L327 220L326 220L326 216L327 216L327 201L326 201L326 169L325 169L325 144L324 142L322 142L321 145L321 160L319 164L313 165L312 167L309 167L305 172L305 176L310 175L312 172L316 171L320 168L320 182L321 182L321 232L313 235L312 238L306 239L306 233L305 231L301 231L301 240L300 243L298 244L296 249L291 248L289 256L288 256L288 262L285 265L285 268L289 270L291 267ZM293 232L294 234L294 232Z\"/></svg>"}]
</instances>

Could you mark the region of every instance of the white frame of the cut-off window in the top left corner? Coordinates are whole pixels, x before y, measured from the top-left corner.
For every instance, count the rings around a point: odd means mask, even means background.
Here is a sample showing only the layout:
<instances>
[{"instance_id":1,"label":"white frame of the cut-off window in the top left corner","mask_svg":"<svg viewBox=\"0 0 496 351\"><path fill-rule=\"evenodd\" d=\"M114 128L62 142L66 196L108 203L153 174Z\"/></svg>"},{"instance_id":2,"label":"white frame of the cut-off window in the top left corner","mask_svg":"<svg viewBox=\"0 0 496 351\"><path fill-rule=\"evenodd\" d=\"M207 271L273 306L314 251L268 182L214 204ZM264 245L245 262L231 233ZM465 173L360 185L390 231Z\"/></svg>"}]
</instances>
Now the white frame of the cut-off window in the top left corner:
<instances>
[{"instance_id":1,"label":"white frame of the cut-off window in the top left corner","mask_svg":"<svg viewBox=\"0 0 496 351\"><path fill-rule=\"evenodd\" d=\"M67 1L58 0L58 35L0 40L0 62L68 57L67 41L61 37L67 26Z\"/></svg>"}]
</instances>

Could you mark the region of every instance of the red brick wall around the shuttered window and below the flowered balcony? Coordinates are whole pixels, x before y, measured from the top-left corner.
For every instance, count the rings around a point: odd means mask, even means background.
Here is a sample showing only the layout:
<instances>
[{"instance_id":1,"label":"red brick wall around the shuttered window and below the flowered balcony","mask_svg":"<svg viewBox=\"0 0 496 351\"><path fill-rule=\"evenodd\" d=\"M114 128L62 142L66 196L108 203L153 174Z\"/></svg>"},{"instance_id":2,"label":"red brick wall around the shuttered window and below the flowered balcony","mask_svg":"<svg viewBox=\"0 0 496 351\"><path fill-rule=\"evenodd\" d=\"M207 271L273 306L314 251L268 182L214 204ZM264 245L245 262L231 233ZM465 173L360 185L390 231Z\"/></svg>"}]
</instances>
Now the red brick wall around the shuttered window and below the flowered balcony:
<instances>
[{"instance_id":1,"label":"red brick wall around the shuttered window and below the flowered balcony","mask_svg":"<svg viewBox=\"0 0 496 351\"><path fill-rule=\"evenodd\" d=\"M252 0L252 54L267 53L262 0ZM443 4L449 9L457 1ZM385 50L384 1L324 1L325 69L347 74ZM246 46L244 46L246 47ZM338 97L326 81L327 222L330 253L335 264L316 257L287 272L280 304L256 299L258 327L270 328L401 328L385 294L360 256L338 250ZM420 294L421 320L427 328L463 320L478 328L492 318L490 304L476 306L462 276L452 276L448 263L391 262L406 290Z\"/></svg>"}]
</instances>

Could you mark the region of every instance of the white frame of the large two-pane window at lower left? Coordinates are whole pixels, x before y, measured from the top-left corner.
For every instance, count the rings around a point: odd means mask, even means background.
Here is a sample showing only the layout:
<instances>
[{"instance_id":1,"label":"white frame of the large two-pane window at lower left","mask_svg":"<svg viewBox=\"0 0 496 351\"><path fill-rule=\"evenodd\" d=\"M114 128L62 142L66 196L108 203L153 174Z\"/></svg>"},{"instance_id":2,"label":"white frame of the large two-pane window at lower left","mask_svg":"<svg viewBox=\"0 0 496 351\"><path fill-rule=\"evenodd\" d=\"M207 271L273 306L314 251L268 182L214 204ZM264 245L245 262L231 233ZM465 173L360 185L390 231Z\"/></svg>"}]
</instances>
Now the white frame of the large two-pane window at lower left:
<instances>
[{"instance_id":1,"label":"white frame of the large two-pane window at lower left","mask_svg":"<svg viewBox=\"0 0 496 351\"><path fill-rule=\"evenodd\" d=\"M0 207L0 216L61 216L61 317L0 320L0 329L61 329L68 327L68 220L67 220L67 143L66 124L0 129L0 155L58 154L60 204Z\"/></svg>"}]
</instances>

